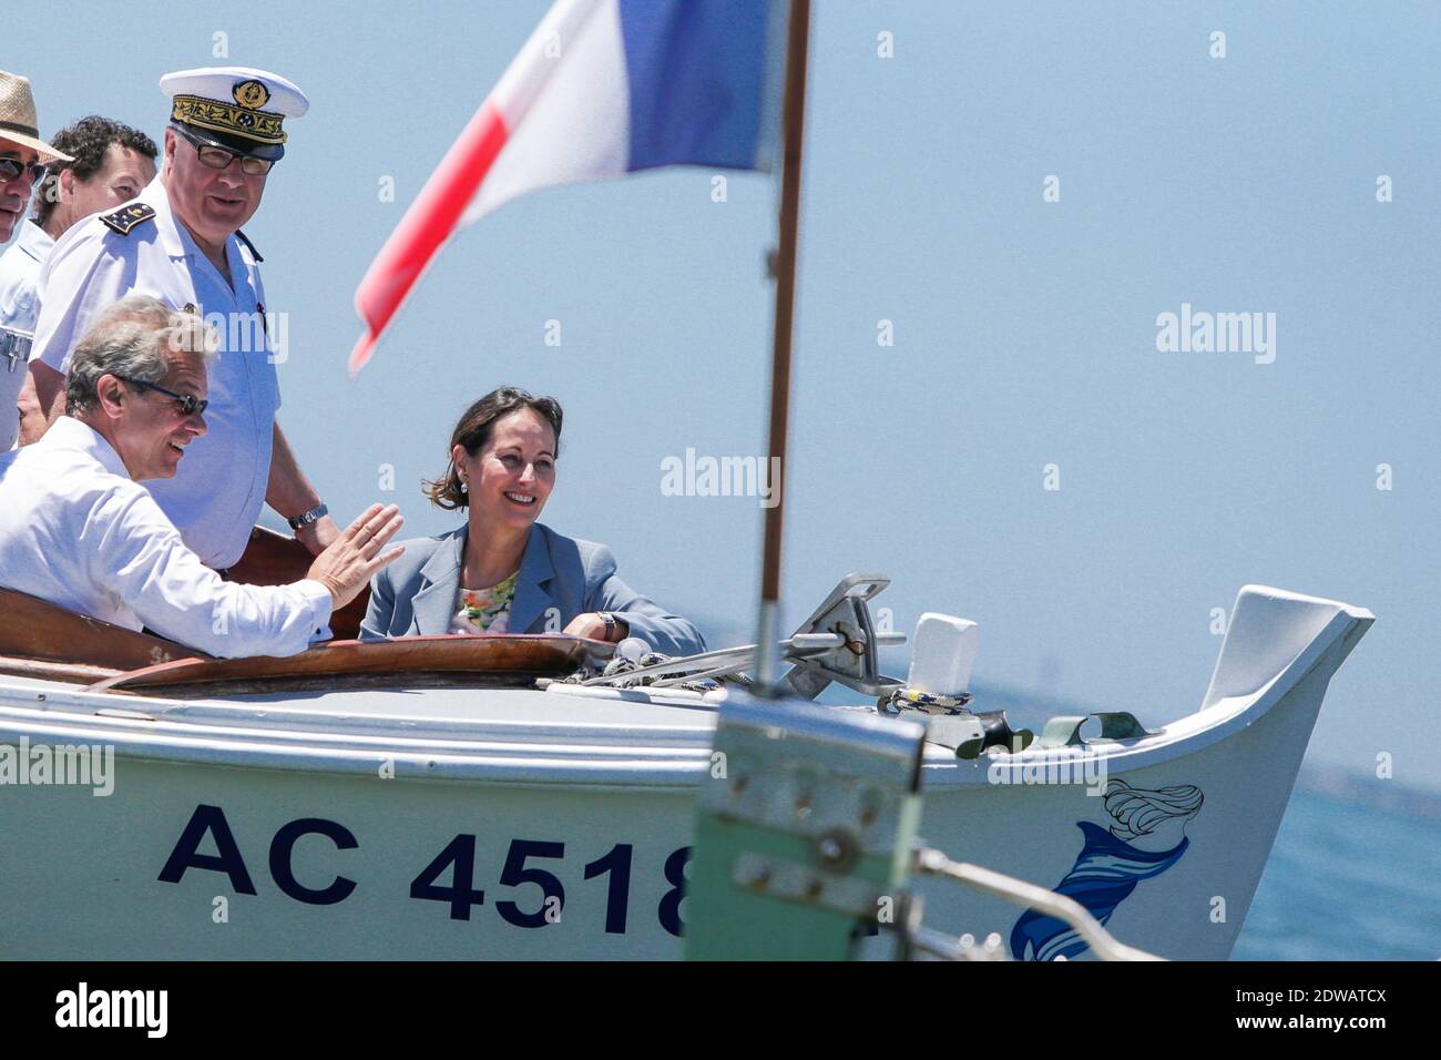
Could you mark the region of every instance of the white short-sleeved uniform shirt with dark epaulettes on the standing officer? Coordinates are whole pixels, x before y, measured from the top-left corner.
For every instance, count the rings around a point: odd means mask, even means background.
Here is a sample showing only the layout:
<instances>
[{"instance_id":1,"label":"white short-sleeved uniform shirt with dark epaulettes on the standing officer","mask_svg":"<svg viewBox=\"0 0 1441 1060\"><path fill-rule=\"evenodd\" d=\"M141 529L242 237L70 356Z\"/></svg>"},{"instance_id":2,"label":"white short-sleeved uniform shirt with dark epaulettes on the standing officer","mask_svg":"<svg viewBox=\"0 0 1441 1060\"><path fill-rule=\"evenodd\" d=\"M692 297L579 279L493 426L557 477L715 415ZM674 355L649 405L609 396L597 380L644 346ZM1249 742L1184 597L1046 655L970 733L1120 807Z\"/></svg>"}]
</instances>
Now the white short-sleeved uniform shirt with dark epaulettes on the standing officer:
<instances>
[{"instance_id":1,"label":"white short-sleeved uniform shirt with dark epaulettes on the standing officer","mask_svg":"<svg viewBox=\"0 0 1441 1060\"><path fill-rule=\"evenodd\" d=\"M127 294L150 294L174 309L189 303L220 324L205 412L210 430L186 449L176 477L148 487L200 560L225 568L241 558L265 502L280 408L269 339L258 326L256 313L265 304L259 267L241 239L226 239L232 291L176 221L160 177L133 202L154 208L156 216L128 235L105 225L105 215L92 215L56 242L40 274L40 319L30 356L65 372L71 350L95 317ZM223 320L215 319L218 313Z\"/></svg>"}]
</instances>

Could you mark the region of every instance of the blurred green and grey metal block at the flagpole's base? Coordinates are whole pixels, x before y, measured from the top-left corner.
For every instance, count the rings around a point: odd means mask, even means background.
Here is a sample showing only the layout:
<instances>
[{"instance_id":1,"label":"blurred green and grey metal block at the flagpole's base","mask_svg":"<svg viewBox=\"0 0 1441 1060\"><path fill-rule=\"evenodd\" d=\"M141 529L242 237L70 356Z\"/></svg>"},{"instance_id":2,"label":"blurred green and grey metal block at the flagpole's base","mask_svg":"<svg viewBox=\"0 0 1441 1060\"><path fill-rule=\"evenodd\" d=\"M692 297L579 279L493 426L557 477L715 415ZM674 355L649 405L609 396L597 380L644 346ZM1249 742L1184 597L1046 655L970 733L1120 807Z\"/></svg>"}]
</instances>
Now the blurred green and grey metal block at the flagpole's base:
<instances>
[{"instance_id":1,"label":"blurred green and grey metal block at the flagpole's base","mask_svg":"<svg viewBox=\"0 0 1441 1060\"><path fill-rule=\"evenodd\" d=\"M744 694L722 704L719 769L696 800L686 956L855 956L863 926L904 894L924 736L843 707Z\"/></svg>"}]
</instances>

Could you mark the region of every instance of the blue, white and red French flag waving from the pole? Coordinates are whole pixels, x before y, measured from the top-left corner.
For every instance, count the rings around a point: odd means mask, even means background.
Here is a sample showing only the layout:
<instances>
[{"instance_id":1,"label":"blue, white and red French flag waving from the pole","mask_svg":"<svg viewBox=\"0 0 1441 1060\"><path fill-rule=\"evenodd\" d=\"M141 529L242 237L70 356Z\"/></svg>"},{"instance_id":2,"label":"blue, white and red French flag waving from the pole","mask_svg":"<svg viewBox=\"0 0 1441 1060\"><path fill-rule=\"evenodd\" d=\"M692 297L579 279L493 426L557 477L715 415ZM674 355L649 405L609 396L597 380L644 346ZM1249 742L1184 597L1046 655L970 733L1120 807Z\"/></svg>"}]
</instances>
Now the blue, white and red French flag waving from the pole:
<instances>
[{"instance_id":1,"label":"blue, white and red French flag waving from the pole","mask_svg":"<svg viewBox=\"0 0 1441 1060\"><path fill-rule=\"evenodd\" d=\"M356 290L354 375L457 229L517 195L657 166L769 170L788 0L558 0Z\"/></svg>"}]
</instances>

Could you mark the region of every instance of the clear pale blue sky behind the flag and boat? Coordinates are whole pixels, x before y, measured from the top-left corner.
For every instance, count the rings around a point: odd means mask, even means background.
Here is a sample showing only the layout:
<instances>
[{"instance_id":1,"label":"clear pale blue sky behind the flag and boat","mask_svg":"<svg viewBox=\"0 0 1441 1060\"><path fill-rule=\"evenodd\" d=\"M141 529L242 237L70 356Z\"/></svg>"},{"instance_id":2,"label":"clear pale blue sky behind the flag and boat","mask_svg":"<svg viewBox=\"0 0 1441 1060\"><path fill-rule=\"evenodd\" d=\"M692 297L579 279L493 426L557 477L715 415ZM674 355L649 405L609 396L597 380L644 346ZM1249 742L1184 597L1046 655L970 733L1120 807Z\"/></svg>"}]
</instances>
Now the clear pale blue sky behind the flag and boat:
<instances>
[{"instance_id":1,"label":"clear pale blue sky behind the flag and boat","mask_svg":"<svg viewBox=\"0 0 1441 1060\"><path fill-rule=\"evenodd\" d=\"M520 199L464 232L344 375L360 275L545 9L137 0L124 23L143 32L117 36L111 6L53 0L7 26L0 68L33 79L46 131L102 112L156 137L166 71L298 82L313 108L248 232L290 313L281 420L331 508L396 499L409 529L447 529L418 482L455 415L503 382L555 394L543 519L735 639L761 509L663 496L660 466L764 449L769 179L732 175L723 203L703 170ZM898 629L924 610L981 623L983 685L1159 724L1200 704L1210 611L1242 584L1331 596L1378 623L1311 760L1369 773L1385 751L1398 780L1441 786L1438 46L1429 4L821 0L788 619L880 570ZM1275 313L1274 363L1159 352L1157 314L1183 303Z\"/></svg>"}]
</instances>

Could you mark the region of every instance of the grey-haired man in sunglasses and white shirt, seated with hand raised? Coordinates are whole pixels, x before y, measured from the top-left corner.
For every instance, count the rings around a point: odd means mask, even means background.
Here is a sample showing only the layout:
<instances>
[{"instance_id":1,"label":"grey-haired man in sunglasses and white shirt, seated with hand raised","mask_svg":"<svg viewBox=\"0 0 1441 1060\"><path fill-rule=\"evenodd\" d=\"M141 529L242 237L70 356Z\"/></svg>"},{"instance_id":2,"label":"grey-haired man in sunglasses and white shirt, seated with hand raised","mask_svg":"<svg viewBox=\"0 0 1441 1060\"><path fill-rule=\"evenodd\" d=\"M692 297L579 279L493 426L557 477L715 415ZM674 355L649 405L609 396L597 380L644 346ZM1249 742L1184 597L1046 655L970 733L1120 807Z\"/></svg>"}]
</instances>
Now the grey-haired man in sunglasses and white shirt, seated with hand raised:
<instances>
[{"instance_id":1,"label":"grey-haired man in sunglasses and white shirt, seated with hand raised","mask_svg":"<svg viewBox=\"0 0 1441 1060\"><path fill-rule=\"evenodd\" d=\"M135 296L75 348L65 414L0 456L0 586L91 617L148 627L210 655L294 655L329 636L401 549L403 519L372 505L290 586L225 581L180 539L143 479L174 476L206 433L209 329Z\"/></svg>"}]
</instances>

